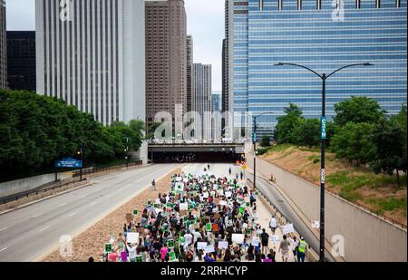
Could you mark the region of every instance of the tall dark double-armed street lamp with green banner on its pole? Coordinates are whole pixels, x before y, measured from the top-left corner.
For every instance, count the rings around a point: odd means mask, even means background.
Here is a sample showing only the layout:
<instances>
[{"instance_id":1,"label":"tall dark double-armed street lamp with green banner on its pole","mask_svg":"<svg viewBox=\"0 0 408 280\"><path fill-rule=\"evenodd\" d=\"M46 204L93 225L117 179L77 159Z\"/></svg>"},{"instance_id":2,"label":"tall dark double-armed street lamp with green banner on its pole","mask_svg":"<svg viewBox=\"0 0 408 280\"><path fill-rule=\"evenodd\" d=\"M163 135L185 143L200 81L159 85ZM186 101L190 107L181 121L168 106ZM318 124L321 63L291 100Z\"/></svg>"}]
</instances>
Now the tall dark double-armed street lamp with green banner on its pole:
<instances>
[{"instance_id":1,"label":"tall dark double-armed street lamp with green banner on its pole","mask_svg":"<svg viewBox=\"0 0 408 280\"><path fill-rule=\"evenodd\" d=\"M350 68L350 67L355 67L355 66L373 66L374 64L372 63L356 63L356 64L350 64L346 65L344 67L341 67L337 69L336 71L326 75L325 73L320 75L316 71L295 63L277 63L275 64L276 66L284 66L284 65L290 65L290 66L296 66L300 67L303 69L306 69L309 72L313 72L316 74L317 77L322 79L323 86L322 86L322 133L321 133L321 140L322 140L322 150L321 150L321 185L320 185L320 262L325 261L325 125L326 125L326 117L325 117L325 82L328 78L333 76L336 72L340 72L344 70L345 68Z\"/></svg>"}]
</instances>

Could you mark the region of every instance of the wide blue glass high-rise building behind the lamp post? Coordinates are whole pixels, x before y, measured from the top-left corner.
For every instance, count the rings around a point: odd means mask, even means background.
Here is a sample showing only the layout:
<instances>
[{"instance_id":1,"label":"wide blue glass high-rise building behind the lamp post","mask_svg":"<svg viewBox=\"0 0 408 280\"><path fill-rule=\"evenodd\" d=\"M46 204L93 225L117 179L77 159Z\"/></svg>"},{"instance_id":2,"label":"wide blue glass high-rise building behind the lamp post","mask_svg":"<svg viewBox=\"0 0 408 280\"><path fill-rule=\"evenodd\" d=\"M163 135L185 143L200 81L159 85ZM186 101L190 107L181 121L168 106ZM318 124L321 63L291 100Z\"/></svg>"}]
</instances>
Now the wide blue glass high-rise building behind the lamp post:
<instances>
[{"instance_id":1,"label":"wide blue glass high-rise building behind the lamp post","mask_svg":"<svg viewBox=\"0 0 408 280\"><path fill-rule=\"evenodd\" d=\"M406 102L406 0L229 0L233 37L229 62L233 80L234 125L240 114L258 115L259 134L269 134L289 102L306 118L321 115L322 82L312 73L275 63L297 63L330 73L353 63L327 80L326 111L351 96L379 102L389 114ZM343 13L344 12L344 13ZM226 13L231 15L231 13ZM230 33L229 33L230 34ZM229 76L230 77L230 76ZM231 84L229 84L231 86Z\"/></svg>"}]
</instances>

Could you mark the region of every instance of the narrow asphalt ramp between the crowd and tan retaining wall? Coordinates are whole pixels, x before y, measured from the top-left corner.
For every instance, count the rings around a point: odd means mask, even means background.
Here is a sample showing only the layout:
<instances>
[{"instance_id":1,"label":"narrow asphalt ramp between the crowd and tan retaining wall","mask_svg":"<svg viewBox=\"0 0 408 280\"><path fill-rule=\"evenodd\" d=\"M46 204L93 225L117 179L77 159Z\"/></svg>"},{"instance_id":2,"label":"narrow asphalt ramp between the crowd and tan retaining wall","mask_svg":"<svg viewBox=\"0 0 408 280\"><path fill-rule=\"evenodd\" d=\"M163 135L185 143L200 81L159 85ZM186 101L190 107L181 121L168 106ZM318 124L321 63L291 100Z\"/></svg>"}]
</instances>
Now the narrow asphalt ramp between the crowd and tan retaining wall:
<instances>
[{"instance_id":1,"label":"narrow asphalt ramp between the crowd and tan retaining wall","mask_svg":"<svg viewBox=\"0 0 408 280\"><path fill-rule=\"evenodd\" d=\"M248 176L253 179L253 173L246 172ZM257 188L262 191L262 193L267 196L269 201L274 205L275 208L290 221L295 227L297 233L305 237L307 244L309 244L316 253L320 251L320 243L309 227L306 227L303 220L297 216L295 210L287 203L287 200L282 197L277 191L277 188L270 184L266 179L257 177ZM329 255L329 252L325 250L325 256L329 261L334 261L334 259Z\"/></svg>"}]
</instances>

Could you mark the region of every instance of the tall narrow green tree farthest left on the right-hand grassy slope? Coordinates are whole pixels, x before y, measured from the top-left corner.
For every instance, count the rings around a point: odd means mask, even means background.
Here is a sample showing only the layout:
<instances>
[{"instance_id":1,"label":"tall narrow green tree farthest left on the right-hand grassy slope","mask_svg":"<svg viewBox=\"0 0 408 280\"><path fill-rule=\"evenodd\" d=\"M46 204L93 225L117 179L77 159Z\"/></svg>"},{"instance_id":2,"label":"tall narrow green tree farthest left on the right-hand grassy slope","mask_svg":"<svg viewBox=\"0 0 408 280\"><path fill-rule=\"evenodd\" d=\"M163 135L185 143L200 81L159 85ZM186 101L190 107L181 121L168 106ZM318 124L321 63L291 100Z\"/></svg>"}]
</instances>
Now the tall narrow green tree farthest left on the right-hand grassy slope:
<instances>
[{"instance_id":1,"label":"tall narrow green tree farthest left on the right-hand grassy slope","mask_svg":"<svg viewBox=\"0 0 408 280\"><path fill-rule=\"evenodd\" d=\"M274 138L277 143L292 143L296 144L296 135L294 130L305 119L302 117L302 111L295 104L290 103L289 107L285 109L285 116L277 118L277 127L274 133Z\"/></svg>"}]
</instances>

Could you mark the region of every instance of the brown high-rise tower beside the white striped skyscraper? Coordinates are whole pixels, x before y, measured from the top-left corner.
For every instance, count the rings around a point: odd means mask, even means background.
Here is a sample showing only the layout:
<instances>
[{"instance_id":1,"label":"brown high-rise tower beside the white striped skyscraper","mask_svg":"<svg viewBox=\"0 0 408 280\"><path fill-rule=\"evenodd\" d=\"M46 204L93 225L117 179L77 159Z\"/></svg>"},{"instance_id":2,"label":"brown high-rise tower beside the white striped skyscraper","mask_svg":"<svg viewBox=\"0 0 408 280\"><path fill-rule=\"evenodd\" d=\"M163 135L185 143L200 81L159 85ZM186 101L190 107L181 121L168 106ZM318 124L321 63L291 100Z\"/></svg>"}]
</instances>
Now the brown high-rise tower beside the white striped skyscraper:
<instances>
[{"instance_id":1,"label":"brown high-rise tower beside the white striped skyscraper","mask_svg":"<svg viewBox=\"0 0 408 280\"><path fill-rule=\"evenodd\" d=\"M170 113L174 124L176 111L182 115L187 111L186 17L183 0L146 1L148 126L158 112Z\"/></svg>"}]
</instances>

